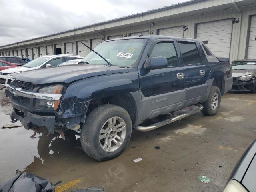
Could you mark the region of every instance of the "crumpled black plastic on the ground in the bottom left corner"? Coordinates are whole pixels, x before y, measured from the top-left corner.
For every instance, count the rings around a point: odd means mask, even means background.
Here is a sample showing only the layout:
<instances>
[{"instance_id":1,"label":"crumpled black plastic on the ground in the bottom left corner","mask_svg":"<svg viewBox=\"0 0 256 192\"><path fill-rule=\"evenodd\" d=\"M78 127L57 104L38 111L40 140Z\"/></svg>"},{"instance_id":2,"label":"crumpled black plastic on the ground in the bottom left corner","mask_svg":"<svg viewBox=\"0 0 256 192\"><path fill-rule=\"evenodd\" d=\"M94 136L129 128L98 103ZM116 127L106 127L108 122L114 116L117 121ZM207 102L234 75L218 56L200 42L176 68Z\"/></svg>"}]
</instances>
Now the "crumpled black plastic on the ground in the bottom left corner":
<instances>
[{"instance_id":1,"label":"crumpled black plastic on the ground in the bottom left corner","mask_svg":"<svg viewBox=\"0 0 256 192\"><path fill-rule=\"evenodd\" d=\"M54 192L54 186L44 178L24 172L0 186L0 192Z\"/></svg>"}]
</instances>

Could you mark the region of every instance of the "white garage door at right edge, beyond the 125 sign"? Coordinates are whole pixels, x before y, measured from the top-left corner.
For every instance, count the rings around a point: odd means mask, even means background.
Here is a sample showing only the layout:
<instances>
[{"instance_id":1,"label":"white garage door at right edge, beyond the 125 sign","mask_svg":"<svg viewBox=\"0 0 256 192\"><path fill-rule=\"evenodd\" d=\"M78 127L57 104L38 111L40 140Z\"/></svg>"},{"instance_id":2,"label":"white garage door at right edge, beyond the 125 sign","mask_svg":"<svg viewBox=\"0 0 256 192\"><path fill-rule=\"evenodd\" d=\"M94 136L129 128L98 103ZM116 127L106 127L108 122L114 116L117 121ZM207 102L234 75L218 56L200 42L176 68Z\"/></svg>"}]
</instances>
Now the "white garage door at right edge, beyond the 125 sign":
<instances>
[{"instance_id":1,"label":"white garage door at right edge, beyond the 125 sign","mask_svg":"<svg viewBox=\"0 0 256 192\"><path fill-rule=\"evenodd\" d=\"M256 59L256 15L251 18L247 58Z\"/></svg>"}]
</instances>

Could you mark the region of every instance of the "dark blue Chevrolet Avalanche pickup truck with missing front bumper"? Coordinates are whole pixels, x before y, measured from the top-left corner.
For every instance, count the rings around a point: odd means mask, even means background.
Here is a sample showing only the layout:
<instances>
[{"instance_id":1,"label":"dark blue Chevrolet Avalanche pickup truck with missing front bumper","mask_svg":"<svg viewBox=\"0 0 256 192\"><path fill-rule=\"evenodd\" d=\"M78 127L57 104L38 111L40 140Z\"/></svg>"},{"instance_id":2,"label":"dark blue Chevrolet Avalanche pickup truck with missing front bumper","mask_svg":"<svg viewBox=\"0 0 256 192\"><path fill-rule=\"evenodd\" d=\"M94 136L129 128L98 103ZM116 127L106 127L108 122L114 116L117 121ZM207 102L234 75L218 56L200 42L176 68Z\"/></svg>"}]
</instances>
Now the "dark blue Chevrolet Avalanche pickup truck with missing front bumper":
<instances>
[{"instance_id":1,"label":"dark blue Chevrolet Avalanche pickup truck with missing front bumper","mask_svg":"<svg viewBox=\"0 0 256 192\"><path fill-rule=\"evenodd\" d=\"M196 39L137 36L100 43L80 64L22 72L6 90L12 121L80 134L89 156L115 158L132 128L149 131L201 111L214 115L232 87L228 58Z\"/></svg>"}]
</instances>

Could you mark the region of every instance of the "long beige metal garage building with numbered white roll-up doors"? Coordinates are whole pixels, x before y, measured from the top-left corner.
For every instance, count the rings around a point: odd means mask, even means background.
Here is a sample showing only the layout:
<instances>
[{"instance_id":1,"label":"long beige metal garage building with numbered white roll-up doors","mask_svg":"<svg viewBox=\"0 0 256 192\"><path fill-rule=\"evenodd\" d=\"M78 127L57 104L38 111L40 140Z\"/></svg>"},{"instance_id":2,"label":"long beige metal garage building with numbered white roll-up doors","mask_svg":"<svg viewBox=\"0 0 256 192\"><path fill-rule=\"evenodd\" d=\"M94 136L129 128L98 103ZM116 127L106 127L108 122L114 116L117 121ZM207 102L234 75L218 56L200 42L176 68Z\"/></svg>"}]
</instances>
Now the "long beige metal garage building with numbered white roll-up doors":
<instances>
[{"instance_id":1,"label":"long beige metal garage building with numbered white roll-up doors","mask_svg":"<svg viewBox=\"0 0 256 192\"><path fill-rule=\"evenodd\" d=\"M74 35L75 34L75 35ZM104 40L164 35L197 38L218 57L256 59L255 0L191 0L176 5L0 46L0 55L31 59L51 54L86 56Z\"/></svg>"}]
</instances>

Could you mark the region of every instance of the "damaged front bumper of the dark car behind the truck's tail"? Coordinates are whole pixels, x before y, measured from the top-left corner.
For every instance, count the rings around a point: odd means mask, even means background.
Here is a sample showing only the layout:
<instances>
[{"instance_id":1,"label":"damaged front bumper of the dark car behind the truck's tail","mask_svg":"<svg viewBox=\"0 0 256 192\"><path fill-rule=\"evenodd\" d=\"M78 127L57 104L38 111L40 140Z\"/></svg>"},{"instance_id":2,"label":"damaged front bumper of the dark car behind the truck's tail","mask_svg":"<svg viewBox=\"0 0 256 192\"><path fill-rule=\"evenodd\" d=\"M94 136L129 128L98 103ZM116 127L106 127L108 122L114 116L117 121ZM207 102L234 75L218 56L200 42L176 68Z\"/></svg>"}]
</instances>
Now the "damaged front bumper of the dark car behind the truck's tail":
<instances>
[{"instance_id":1,"label":"damaged front bumper of the dark car behind the truck's tail","mask_svg":"<svg viewBox=\"0 0 256 192\"><path fill-rule=\"evenodd\" d=\"M256 80L251 79L250 81L241 81L238 78L233 78L233 85L230 91L251 91L256 86Z\"/></svg>"}]
</instances>

